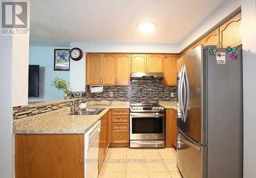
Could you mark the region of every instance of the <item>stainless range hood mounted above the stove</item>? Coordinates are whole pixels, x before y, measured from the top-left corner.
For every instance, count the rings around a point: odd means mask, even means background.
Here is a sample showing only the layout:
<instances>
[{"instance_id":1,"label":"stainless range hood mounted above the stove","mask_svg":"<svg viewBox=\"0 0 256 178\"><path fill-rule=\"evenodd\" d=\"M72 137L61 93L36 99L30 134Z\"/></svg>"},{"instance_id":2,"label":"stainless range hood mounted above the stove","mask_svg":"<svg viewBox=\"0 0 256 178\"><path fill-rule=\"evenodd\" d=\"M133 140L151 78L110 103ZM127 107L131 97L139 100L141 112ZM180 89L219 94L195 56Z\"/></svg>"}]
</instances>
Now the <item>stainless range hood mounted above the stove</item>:
<instances>
[{"instance_id":1,"label":"stainless range hood mounted above the stove","mask_svg":"<svg viewBox=\"0 0 256 178\"><path fill-rule=\"evenodd\" d=\"M162 72L132 72L132 82L161 82L164 78Z\"/></svg>"}]
</instances>

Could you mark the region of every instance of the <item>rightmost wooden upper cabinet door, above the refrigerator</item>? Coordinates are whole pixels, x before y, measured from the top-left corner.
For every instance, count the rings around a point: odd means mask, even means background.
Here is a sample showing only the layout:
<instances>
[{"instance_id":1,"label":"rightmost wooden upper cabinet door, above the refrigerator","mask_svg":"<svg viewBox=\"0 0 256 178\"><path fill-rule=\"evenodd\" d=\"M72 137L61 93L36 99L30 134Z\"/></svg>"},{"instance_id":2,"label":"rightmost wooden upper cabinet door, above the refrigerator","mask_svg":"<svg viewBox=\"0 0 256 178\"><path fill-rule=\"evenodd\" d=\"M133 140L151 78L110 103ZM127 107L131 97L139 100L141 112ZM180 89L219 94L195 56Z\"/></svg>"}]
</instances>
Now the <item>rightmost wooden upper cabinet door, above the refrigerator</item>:
<instances>
[{"instance_id":1,"label":"rightmost wooden upper cabinet door, above the refrigerator","mask_svg":"<svg viewBox=\"0 0 256 178\"><path fill-rule=\"evenodd\" d=\"M237 14L220 27L220 43L221 47L234 47L242 44L241 13Z\"/></svg>"}]
</instances>

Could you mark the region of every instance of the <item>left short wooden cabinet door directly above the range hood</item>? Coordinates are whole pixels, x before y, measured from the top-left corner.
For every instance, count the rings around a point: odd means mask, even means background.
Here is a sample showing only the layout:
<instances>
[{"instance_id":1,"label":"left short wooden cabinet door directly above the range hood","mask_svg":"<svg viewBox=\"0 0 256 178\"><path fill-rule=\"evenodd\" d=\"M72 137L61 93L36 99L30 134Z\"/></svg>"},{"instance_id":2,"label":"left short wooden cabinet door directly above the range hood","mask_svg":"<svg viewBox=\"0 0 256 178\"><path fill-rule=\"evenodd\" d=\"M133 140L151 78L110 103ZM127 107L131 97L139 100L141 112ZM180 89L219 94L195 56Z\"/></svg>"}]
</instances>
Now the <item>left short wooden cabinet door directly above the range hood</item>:
<instances>
[{"instance_id":1,"label":"left short wooden cabinet door directly above the range hood","mask_svg":"<svg viewBox=\"0 0 256 178\"><path fill-rule=\"evenodd\" d=\"M132 55L132 72L146 72L146 55Z\"/></svg>"}]
</instances>

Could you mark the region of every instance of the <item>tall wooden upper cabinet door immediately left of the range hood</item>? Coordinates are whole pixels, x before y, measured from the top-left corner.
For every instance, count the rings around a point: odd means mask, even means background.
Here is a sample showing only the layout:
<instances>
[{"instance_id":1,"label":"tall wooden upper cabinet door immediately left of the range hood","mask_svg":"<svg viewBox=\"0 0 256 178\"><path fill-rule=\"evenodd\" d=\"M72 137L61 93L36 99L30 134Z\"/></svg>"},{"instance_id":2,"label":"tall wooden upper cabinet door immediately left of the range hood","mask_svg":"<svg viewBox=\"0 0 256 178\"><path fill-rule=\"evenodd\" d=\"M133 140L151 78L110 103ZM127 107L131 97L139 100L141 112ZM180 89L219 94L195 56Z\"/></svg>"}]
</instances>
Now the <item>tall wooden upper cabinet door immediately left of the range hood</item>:
<instances>
[{"instance_id":1,"label":"tall wooden upper cabinet door immediately left of the range hood","mask_svg":"<svg viewBox=\"0 0 256 178\"><path fill-rule=\"evenodd\" d=\"M118 54L116 59L116 84L131 84L131 55Z\"/></svg>"}]
</instances>

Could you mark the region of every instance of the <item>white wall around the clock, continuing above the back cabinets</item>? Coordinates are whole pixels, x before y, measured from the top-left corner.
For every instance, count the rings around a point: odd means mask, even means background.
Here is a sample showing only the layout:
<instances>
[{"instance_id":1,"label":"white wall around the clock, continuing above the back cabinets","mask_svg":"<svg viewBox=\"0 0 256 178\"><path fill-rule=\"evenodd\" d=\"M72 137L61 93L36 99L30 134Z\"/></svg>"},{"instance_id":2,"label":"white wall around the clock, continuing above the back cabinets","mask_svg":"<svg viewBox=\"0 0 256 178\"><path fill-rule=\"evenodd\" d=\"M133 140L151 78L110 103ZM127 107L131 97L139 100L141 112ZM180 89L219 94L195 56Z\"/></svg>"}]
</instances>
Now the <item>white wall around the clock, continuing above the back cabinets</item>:
<instances>
[{"instance_id":1,"label":"white wall around the clock, continuing above the back cabinets","mask_svg":"<svg viewBox=\"0 0 256 178\"><path fill-rule=\"evenodd\" d=\"M71 42L70 49L73 47L79 47L83 52L80 61L70 62L70 83L73 91L84 91L86 53L179 53L177 44Z\"/></svg>"}]
</instances>

